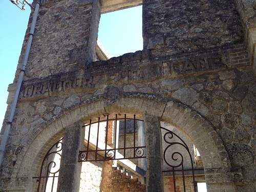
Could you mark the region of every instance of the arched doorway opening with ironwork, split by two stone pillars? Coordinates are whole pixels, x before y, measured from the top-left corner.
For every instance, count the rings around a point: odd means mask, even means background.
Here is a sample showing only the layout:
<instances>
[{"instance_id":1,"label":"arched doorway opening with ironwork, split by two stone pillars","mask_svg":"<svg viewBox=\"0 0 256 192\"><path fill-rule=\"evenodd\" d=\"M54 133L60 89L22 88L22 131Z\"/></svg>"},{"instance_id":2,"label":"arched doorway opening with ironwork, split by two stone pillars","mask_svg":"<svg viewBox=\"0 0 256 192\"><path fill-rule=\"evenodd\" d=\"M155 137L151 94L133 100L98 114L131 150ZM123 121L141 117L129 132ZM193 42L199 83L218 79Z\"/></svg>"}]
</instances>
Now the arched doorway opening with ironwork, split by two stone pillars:
<instances>
[{"instance_id":1,"label":"arched doorway opening with ironwork, split by two stone pillars","mask_svg":"<svg viewBox=\"0 0 256 192\"><path fill-rule=\"evenodd\" d=\"M84 122L84 146L78 155L82 162L79 191L113 192L125 185L127 191L136 187L145 192L144 129L143 120L135 114L107 114ZM168 123L161 122L159 129L164 190L205 192L204 168L193 143ZM56 191L61 150L62 139L45 156L39 177L34 178L38 192Z\"/></svg>"}]
</instances>

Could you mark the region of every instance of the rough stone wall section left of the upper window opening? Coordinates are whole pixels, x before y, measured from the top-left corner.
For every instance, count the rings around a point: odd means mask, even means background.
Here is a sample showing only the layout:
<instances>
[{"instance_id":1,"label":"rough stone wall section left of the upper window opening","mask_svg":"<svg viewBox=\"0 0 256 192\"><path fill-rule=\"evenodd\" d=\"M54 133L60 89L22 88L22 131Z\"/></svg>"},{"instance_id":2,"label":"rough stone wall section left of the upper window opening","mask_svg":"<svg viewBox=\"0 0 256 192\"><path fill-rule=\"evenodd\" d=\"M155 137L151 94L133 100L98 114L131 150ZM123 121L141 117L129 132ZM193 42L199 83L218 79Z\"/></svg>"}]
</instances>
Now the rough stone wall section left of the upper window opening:
<instances>
[{"instance_id":1,"label":"rough stone wall section left of the upper window opening","mask_svg":"<svg viewBox=\"0 0 256 192\"><path fill-rule=\"evenodd\" d=\"M75 71L96 60L100 5L94 2L48 1L41 4L25 79ZM32 13L26 35L31 17ZM26 45L27 38L21 55ZM20 56L17 69L22 59Z\"/></svg>"}]
</instances>

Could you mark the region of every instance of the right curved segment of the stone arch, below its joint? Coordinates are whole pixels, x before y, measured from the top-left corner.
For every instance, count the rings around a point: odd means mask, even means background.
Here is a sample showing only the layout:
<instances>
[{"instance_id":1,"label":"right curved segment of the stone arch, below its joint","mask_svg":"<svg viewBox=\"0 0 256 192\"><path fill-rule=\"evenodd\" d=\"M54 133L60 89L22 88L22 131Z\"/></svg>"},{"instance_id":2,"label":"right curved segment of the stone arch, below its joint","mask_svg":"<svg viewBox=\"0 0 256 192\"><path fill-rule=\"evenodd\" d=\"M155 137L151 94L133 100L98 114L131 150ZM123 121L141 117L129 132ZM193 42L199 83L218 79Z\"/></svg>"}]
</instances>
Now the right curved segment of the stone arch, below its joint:
<instances>
[{"instance_id":1,"label":"right curved segment of the stone arch, below its joint","mask_svg":"<svg viewBox=\"0 0 256 192\"><path fill-rule=\"evenodd\" d=\"M230 168L228 155L226 154L224 158L223 154L220 156L225 148L214 127L193 109L182 103L168 101L162 120L173 123L193 141L202 156L205 167Z\"/></svg>"}]
</instances>

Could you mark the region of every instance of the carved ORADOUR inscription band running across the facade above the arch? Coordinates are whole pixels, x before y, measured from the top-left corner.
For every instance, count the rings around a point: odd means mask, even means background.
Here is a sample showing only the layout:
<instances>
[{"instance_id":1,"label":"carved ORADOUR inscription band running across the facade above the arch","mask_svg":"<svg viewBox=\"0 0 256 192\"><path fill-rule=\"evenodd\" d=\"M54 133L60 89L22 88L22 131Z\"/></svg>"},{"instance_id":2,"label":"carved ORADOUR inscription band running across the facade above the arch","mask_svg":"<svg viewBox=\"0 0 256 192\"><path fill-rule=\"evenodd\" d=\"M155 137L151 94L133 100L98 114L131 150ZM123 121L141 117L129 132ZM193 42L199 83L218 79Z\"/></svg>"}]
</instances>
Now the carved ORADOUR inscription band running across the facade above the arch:
<instances>
[{"instance_id":1,"label":"carved ORADOUR inscription band running across the facade above the arch","mask_svg":"<svg viewBox=\"0 0 256 192\"><path fill-rule=\"evenodd\" d=\"M51 92L66 91L69 89L93 89L102 84L127 83L142 80L172 77L223 68L225 65L220 55L200 56L181 59L171 59L165 62L158 61L147 65L131 66L129 63L122 68L109 67L107 70L99 70L97 74L87 72L84 76L69 75L55 77L52 80L42 80L34 83L26 82L23 85L22 98L31 98L40 95L48 95Z\"/></svg>"}]
</instances>

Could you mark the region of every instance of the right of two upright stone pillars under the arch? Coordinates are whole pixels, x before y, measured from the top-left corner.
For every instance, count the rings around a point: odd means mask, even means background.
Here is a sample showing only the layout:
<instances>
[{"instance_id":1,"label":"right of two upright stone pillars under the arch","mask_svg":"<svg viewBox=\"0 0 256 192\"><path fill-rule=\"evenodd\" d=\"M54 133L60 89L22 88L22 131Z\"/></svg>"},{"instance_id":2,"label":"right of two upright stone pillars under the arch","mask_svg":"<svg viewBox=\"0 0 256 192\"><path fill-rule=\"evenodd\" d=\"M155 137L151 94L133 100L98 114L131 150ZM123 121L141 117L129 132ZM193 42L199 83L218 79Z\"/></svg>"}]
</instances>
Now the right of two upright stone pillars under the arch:
<instances>
[{"instance_id":1,"label":"right of two upright stone pillars under the arch","mask_svg":"<svg viewBox=\"0 0 256 192\"><path fill-rule=\"evenodd\" d=\"M144 114L146 139L146 191L163 192L160 118Z\"/></svg>"}]
</instances>

